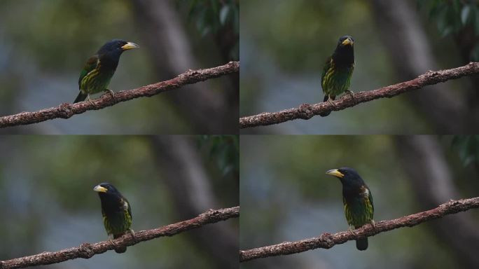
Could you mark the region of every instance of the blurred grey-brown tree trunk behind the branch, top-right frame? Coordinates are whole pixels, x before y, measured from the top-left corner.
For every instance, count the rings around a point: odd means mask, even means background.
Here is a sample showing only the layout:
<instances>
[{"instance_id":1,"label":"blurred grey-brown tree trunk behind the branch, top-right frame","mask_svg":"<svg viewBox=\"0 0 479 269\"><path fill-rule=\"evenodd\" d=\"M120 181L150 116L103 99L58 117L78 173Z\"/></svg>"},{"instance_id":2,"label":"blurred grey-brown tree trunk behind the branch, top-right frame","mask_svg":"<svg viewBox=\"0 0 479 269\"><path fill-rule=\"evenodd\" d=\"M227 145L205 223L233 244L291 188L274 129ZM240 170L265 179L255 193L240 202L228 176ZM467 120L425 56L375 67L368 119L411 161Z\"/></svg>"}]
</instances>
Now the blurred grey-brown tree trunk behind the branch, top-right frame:
<instances>
[{"instance_id":1,"label":"blurred grey-brown tree trunk behind the branch, top-right frame","mask_svg":"<svg viewBox=\"0 0 479 269\"><path fill-rule=\"evenodd\" d=\"M408 80L440 65L433 55L415 1L370 0L373 18L377 21L380 39L389 50L396 77ZM470 76L472 80L477 76ZM436 134L463 134L479 130L477 86L470 90L451 90L446 85L434 85L429 91L408 95L413 108L432 123ZM447 119L447 120L445 120Z\"/></svg>"}]
</instances>

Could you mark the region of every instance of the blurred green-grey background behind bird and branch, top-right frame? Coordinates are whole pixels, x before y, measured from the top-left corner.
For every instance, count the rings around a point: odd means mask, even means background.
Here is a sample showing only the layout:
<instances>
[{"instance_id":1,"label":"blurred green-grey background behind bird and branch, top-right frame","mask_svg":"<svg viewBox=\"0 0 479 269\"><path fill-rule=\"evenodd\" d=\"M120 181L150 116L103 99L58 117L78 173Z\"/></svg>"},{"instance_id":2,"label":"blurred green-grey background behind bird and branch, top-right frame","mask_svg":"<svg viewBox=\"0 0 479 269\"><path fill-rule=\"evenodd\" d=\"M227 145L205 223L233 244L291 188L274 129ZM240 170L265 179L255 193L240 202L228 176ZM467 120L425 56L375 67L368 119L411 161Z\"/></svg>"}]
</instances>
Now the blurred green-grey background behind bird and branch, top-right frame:
<instances>
[{"instance_id":1,"label":"blurred green-grey background behind bird and branch, top-right frame","mask_svg":"<svg viewBox=\"0 0 479 269\"><path fill-rule=\"evenodd\" d=\"M340 36L354 37L354 92L479 61L478 1L243 0L240 116L323 100L321 72ZM244 134L474 134L479 76L428 86Z\"/></svg>"}]
</instances>

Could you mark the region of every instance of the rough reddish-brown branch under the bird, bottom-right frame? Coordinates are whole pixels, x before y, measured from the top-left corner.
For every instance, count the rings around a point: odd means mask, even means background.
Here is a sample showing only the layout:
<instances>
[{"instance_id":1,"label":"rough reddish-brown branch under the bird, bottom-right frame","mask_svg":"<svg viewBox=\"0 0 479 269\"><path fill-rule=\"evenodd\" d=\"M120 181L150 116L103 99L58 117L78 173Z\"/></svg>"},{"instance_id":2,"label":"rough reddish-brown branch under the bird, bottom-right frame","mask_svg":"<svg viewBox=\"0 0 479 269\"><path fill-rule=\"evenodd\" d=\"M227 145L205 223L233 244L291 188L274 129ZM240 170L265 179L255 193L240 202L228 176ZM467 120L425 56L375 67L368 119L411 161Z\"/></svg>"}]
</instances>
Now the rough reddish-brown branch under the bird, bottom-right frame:
<instances>
[{"instance_id":1,"label":"rough reddish-brown branch under the bird, bottom-right frame","mask_svg":"<svg viewBox=\"0 0 479 269\"><path fill-rule=\"evenodd\" d=\"M477 207L479 207L479 197L450 200L449 202L445 202L442 205L439 205L438 207L428 211L419 212L409 216L403 216L390 221L377 222L375 223L374 228L371 225L363 226L354 230L354 234L349 230L333 234L323 233L319 235L319 237L312 237L310 239L296 242L283 242L281 244L274 244L272 246L258 247L256 249L240 251L240 262L250 261L255 258L295 254L310 249L330 249L336 244L343 244L349 240L357 240L360 237L377 235L378 233L404 226L416 226L424 221L439 219L448 214L455 214Z\"/></svg>"}]
</instances>

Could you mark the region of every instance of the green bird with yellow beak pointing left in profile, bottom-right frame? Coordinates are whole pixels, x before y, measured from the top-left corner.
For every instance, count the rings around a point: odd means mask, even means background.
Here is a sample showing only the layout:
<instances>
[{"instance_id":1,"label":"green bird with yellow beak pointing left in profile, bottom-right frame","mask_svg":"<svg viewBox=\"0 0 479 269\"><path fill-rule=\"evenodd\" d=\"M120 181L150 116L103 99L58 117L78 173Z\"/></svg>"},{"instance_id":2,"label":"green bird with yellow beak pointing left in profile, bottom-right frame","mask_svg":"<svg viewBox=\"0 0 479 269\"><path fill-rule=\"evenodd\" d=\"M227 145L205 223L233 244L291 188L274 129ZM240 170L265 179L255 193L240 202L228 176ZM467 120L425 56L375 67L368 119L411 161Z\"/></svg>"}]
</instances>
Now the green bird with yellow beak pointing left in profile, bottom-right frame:
<instances>
[{"instance_id":1,"label":"green bird with yellow beak pointing left in profile, bottom-right frame","mask_svg":"<svg viewBox=\"0 0 479 269\"><path fill-rule=\"evenodd\" d=\"M326 174L340 179L342 184L342 202L345 205L345 216L352 233L352 226L360 228L370 223L374 227L374 204L373 195L366 183L359 176L356 170L343 167L340 169L328 170ZM356 240L356 249L366 250L368 248L368 237Z\"/></svg>"}]
</instances>

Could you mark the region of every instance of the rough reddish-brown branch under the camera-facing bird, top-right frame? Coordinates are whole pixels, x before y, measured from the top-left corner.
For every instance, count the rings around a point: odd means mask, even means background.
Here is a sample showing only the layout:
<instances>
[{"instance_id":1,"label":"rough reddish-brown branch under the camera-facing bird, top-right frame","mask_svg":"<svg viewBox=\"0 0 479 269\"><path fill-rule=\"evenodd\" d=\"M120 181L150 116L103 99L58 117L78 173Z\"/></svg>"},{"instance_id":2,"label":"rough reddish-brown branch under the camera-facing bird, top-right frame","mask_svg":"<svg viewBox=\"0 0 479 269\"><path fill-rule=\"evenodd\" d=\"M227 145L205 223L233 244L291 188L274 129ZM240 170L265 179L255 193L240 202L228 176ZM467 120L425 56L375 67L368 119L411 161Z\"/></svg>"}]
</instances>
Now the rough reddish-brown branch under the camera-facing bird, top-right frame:
<instances>
[{"instance_id":1,"label":"rough reddish-brown branch under the camera-facing bird, top-right frame","mask_svg":"<svg viewBox=\"0 0 479 269\"><path fill-rule=\"evenodd\" d=\"M273 125L284 123L288 120L296 120L298 118L309 120L313 116L326 111L340 111L347 109L348 107L356 106L356 104L384 97L394 97L404 92L423 88L426 85L434 85L440 82L449 81L450 79L471 76L473 74L479 74L479 62L470 62L463 67L457 67L454 69L428 71L410 81L397 83L376 90L369 90L367 92L357 92L354 94L354 99L351 95L344 95L340 99L333 101L332 104L330 102L302 104L298 108L285 109L278 112L265 112L254 116L242 117L240 118L240 128Z\"/></svg>"}]
</instances>

